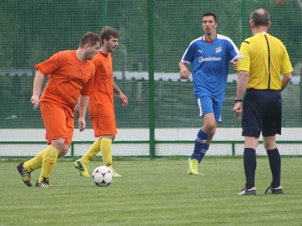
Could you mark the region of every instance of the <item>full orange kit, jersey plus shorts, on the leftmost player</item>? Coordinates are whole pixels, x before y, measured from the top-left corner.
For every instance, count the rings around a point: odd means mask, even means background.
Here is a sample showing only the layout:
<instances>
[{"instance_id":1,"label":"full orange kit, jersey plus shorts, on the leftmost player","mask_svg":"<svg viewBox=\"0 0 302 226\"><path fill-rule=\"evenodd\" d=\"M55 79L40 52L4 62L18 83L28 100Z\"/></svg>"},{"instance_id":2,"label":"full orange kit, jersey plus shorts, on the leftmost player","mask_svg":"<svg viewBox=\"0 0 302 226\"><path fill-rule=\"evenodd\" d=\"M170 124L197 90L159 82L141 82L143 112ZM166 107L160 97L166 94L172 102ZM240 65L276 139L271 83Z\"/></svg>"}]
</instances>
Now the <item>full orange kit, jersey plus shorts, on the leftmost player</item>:
<instances>
[{"instance_id":1,"label":"full orange kit, jersey plus shorts, on the leftmost player","mask_svg":"<svg viewBox=\"0 0 302 226\"><path fill-rule=\"evenodd\" d=\"M76 50L66 50L35 67L44 76L50 75L40 98L48 144L52 139L65 138L70 146L75 104L80 93L89 96L93 91L94 65L91 61L80 62Z\"/></svg>"}]
</instances>

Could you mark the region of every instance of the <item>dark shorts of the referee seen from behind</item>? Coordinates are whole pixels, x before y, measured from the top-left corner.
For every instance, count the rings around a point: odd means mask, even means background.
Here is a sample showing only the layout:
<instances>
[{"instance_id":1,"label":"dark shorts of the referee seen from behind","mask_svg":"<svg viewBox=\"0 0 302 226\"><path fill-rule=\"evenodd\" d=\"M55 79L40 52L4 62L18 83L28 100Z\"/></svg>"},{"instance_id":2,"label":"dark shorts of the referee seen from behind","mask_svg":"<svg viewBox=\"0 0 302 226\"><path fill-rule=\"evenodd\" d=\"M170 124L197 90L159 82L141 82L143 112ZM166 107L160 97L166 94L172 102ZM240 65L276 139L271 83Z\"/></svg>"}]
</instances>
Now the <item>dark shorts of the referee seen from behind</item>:
<instances>
[{"instance_id":1,"label":"dark shorts of the referee seen from behind","mask_svg":"<svg viewBox=\"0 0 302 226\"><path fill-rule=\"evenodd\" d=\"M280 90L247 90L243 103L242 136L281 135Z\"/></svg>"}]
</instances>

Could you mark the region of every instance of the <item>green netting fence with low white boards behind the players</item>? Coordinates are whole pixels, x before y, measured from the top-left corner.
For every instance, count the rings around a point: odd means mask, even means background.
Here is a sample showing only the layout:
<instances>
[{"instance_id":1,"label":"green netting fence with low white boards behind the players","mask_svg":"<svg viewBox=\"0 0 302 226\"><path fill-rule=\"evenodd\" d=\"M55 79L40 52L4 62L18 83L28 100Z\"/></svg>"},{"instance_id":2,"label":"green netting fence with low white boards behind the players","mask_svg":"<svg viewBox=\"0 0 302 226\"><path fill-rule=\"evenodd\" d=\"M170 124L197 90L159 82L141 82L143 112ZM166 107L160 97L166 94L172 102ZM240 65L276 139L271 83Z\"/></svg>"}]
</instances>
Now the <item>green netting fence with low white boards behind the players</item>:
<instances>
[{"instance_id":1,"label":"green netting fence with low white boards behind the players","mask_svg":"<svg viewBox=\"0 0 302 226\"><path fill-rule=\"evenodd\" d=\"M29 100L34 65L64 49L76 49L87 31L105 25L121 34L113 53L116 84L127 95L126 108L115 98L118 135L114 156L187 156L202 125L192 81L180 81L178 62L201 35L201 15L218 16L217 33L240 47L251 36L250 13L271 14L269 33L286 45L293 80L282 92L282 155L302 155L302 3L301 0L0 0L0 157L33 156L46 147L39 110ZM232 108L237 73L227 82L223 123L208 155L243 153L241 122ZM82 155L95 140L75 130L68 156ZM258 154L265 154L262 145Z\"/></svg>"}]
</instances>

